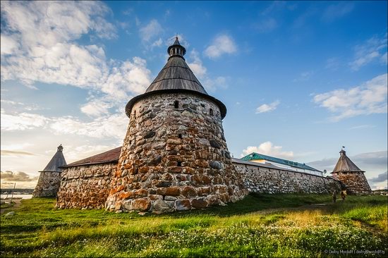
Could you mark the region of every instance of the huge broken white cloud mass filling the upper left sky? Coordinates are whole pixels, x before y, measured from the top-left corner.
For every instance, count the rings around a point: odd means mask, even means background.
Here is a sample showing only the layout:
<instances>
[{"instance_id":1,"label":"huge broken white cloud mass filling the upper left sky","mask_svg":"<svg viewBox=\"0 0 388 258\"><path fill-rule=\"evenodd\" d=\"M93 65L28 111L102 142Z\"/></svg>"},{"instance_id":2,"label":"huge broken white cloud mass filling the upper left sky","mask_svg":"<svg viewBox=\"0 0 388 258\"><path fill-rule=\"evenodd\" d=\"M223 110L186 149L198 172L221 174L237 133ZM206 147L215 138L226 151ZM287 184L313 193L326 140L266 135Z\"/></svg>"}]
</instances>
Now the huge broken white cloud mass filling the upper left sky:
<instances>
[{"instance_id":1,"label":"huge broken white cloud mass filling the upper left sky","mask_svg":"<svg viewBox=\"0 0 388 258\"><path fill-rule=\"evenodd\" d=\"M109 12L96 1L1 1L1 41L8 42L1 47L7 54L1 56L1 80L32 88L35 82L72 85L117 99L144 92L150 84L144 59L107 61L103 46L76 42L83 35L116 37L104 19Z\"/></svg>"}]
</instances>

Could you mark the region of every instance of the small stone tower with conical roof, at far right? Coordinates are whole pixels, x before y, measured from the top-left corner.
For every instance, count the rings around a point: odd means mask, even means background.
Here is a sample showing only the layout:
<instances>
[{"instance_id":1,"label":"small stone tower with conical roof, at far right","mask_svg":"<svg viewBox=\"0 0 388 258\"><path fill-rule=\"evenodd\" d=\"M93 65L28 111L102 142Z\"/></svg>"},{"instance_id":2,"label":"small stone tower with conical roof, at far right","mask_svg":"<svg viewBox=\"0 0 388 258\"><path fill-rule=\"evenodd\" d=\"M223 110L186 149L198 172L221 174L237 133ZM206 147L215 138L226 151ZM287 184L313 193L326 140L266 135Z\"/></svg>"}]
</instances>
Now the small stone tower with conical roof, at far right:
<instances>
[{"instance_id":1,"label":"small stone tower with conical roof, at far right","mask_svg":"<svg viewBox=\"0 0 388 258\"><path fill-rule=\"evenodd\" d=\"M344 149L339 152L339 160L335 166L332 176L344 183L349 194L369 194L372 192L365 178L365 171L360 170L351 159L346 156Z\"/></svg>"}]
</instances>

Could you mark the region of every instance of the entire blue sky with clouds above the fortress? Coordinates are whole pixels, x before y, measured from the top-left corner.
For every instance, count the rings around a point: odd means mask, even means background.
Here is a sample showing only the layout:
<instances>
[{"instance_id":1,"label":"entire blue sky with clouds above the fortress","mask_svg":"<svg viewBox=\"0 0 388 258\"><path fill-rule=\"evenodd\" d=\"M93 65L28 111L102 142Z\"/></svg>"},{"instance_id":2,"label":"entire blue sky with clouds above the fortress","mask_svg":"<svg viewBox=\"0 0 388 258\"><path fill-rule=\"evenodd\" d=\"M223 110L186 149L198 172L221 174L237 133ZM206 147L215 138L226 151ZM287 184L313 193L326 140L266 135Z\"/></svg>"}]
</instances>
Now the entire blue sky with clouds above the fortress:
<instances>
[{"instance_id":1,"label":"entire blue sky with clouds above the fortress","mask_svg":"<svg viewBox=\"0 0 388 258\"><path fill-rule=\"evenodd\" d=\"M235 157L332 171L346 146L386 187L387 1L1 1L2 185L34 187L60 143L68 163L120 146L175 35Z\"/></svg>"}]
</instances>

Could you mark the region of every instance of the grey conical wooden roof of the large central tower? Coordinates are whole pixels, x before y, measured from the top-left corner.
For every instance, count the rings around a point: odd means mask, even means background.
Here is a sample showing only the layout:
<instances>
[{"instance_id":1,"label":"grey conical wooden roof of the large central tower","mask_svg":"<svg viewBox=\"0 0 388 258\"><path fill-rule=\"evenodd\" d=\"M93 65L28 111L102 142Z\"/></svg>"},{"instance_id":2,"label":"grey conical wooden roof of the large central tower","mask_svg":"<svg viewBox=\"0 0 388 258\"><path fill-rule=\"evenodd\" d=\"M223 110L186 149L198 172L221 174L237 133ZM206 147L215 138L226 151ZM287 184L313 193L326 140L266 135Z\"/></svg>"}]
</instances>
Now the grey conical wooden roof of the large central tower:
<instances>
[{"instance_id":1,"label":"grey conical wooden roof of the large central tower","mask_svg":"<svg viewBox=\"0 0 388 258\"><path fill-rule=\"evenodd\" d=\"M143 97L151 94L187 92L199 94L215 102L219 106L222 118L224 118L226 116L226 106L218 99L207 94L205 88L188 67L183 58L186 49L179 43L178 37L176 37L174 44L167 49L167 53L169 53L169 60L150 87L147 88L144 94L134 97L126 104L126 115L131 117L133 104Z\"/></svg>"}]
</instances>

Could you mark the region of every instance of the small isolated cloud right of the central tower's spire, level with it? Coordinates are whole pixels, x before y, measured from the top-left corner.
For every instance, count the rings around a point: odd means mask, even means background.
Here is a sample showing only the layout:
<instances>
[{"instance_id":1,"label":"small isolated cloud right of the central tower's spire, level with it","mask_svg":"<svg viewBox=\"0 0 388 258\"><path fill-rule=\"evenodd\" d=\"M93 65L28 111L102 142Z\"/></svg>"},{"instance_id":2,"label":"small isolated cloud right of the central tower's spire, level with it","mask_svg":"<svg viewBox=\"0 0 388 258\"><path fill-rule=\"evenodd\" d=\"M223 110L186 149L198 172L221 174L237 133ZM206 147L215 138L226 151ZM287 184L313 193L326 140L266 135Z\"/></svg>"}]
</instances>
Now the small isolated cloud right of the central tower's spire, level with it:
<instances>
[{"instance_id":1,"label":"small isolated cloud right of the central tower's spire, level with it","mask_svg":"<svg viewBox=\"0 0 388 258\"><path fill-rule=\"evenodd\" d=\"M229 35L218 35L212 44L205 49L205 55L210 59L217 59L223 54L233 54L237 51L234 39Z\"/></svg>"}]
</instances>

